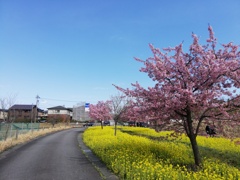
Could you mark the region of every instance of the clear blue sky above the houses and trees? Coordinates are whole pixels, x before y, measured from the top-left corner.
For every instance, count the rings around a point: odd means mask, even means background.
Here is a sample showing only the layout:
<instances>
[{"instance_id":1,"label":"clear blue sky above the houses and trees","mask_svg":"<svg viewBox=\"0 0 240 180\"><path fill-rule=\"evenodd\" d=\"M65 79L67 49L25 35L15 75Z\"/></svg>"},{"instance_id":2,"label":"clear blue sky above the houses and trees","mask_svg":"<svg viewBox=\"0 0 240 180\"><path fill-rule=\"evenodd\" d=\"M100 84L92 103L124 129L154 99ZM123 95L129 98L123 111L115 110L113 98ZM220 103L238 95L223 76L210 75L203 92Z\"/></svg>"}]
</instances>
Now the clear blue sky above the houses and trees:
<instances>
[{"instance_id":1,"label":"clear blue sky above the houses and trees","mask_svg":"<svg viewBox=\"0 0 240 180\"><path fill-rule=\"evenodd\" d=\"M134 57L184 41L240 44L239 0L0 0L0 97L39 107L95 104L152 82Z\"/></svg>"}]
</instances>

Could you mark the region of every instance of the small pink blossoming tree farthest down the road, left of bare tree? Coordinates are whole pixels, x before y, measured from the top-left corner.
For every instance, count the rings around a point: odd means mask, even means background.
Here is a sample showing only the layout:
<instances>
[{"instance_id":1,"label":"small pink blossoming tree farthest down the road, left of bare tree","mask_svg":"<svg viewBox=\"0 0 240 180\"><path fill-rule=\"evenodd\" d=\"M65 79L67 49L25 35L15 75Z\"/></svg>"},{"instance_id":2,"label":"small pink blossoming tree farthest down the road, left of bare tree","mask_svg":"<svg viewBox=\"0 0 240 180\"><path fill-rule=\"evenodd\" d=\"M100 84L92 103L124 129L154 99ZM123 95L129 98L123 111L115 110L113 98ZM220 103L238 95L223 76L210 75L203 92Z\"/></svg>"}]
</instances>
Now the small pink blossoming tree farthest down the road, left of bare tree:
<instances>
[{"instance_id":1,"label":"small pink blossoming tree farthest down the road, left of bare tree","mask_svg":"<svg viewBox=\"0 0 240 180\"><path fill-rule=\"evenodd\" d=\"M101 121L101 127L103 128L102 121L110 120L112 118L109 101L98 101L96 105L91 104L89 107L89 116Z\"/></svg>"}]
</instances>

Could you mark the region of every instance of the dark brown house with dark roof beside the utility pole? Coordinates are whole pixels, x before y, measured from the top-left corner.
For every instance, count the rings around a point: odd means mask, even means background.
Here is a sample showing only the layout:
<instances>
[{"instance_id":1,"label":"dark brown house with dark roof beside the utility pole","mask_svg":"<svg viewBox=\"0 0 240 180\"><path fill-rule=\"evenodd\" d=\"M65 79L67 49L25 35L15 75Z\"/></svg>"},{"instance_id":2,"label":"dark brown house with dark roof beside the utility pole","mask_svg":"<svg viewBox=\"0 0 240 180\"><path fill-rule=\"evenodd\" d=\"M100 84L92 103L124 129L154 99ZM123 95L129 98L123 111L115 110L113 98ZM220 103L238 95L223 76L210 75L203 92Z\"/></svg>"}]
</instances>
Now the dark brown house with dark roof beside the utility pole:
<instances>
[{"instance_id":1,"label":"dark brown house with dark roof beside the utility pole","mask_svg":"<svg viewBox=\"0 0 240 180\"><path fill-rule=\"evenodd\" d=\"M10 122L36 122L38 113L42 112L36 105L15 104L8 110Z\"/></svg>"}]
</instances>

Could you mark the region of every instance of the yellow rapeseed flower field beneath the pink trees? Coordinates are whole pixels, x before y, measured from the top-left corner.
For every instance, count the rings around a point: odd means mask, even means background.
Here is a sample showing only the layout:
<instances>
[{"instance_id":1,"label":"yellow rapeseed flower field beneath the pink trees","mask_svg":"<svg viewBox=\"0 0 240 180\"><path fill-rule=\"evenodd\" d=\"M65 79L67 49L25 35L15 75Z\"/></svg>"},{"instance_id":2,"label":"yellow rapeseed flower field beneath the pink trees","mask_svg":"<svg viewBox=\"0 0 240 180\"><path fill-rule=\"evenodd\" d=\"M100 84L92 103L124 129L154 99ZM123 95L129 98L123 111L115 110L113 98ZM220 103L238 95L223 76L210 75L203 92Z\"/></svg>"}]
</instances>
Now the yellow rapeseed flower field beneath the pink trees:
<instances>
[{"instance_id":1,"label":"yellow rapeseed flower field beneath the pink trees","mask_svg":"<svg viewBox=\"0 0 240 180\"><path fill-rule=\"evenodd\" d=\"M185 135L157 133L149 128L91 127L83 140L121 179L240 179L240 146L225 138L198 137L203 167L190 170L193 155Z\"/></svg>"}]
</instances>

